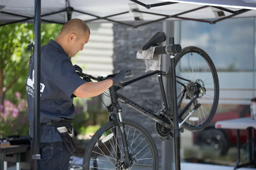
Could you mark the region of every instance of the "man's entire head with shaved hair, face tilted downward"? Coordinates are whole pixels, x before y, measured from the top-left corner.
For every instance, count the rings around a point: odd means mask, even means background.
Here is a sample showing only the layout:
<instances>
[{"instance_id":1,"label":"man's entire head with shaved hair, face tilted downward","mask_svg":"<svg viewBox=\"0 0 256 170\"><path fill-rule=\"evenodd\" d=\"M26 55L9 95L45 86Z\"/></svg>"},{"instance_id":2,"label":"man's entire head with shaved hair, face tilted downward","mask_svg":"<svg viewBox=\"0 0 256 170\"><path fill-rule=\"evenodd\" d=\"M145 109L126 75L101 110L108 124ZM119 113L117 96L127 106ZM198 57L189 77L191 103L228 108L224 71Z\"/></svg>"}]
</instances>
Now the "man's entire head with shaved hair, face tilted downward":
<instances>
[{"instance_id":1,"label":"man's entire head with shaved hair, face tilted downward","mask_svg":"<svg viewBox=\"0 0 256 170\"><path fill-rule=\"evenodd\" d=\"M68 57L74 57L76 53L84 49L89 41L90 28L81 19L71 19L66 22L55 40L67 53Z\"/></svg>"}]
</instances>

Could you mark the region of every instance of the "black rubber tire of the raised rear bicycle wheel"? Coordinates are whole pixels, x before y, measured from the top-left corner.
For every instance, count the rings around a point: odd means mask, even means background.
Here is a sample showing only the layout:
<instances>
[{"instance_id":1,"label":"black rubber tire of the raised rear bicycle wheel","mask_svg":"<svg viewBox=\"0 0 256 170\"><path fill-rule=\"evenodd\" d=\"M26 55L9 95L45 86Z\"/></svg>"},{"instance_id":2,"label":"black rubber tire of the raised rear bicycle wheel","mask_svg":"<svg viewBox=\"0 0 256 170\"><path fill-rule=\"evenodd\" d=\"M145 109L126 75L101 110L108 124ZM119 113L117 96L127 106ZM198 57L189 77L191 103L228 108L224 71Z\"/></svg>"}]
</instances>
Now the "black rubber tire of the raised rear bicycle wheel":
<instances>
[{"instance_id":1,"label":"black rubber tire of the raised rear bicycle wheel","mask_svg":"<svg viewBox=\"0 0 256 170\"><path fill-rule=\"evenodd\" d=\"M218 79L217 70L216 70L210 56L204 50L202 50L201 48L198 48L196 46L188 46L188 47L183 48L181 50L181 52L178 53L175 56L175 67L176 67L177 63L179 62L179 60L181 59L182 56L184 56L187 53L191 53L191 52L198 53L208 63L208 66L211 69L213 80L214 80L214 89L216 89L214 91L214 100L213 100L213 104L212 104L212 109L210 111L210 114L209 114L208 118L205 120L205 122L203 124L200 124L200 125L195 126L195 127L188 125L186 122L184 122L182 124L182 127L184 129L188 130L188 131L200 131L200 130L203 130L204 128L206 128L208 124L210 124L210 122L212 121L212 118L214 117L215 112L217 110L218 103L219 103L219 90L220 90L219 89L219 79ZM168 73L172 74L172 66L169 67ZM169 104L170 104L169 108L171 110L171 113L173 113L173 108L172 108L172 79L171 79L171 77L168 77L168 99L169 99ZM178 114L179 123L181 123L183 121L182 116L183 115L181 115L180 113Z\"/></svg>"}]
</instances>

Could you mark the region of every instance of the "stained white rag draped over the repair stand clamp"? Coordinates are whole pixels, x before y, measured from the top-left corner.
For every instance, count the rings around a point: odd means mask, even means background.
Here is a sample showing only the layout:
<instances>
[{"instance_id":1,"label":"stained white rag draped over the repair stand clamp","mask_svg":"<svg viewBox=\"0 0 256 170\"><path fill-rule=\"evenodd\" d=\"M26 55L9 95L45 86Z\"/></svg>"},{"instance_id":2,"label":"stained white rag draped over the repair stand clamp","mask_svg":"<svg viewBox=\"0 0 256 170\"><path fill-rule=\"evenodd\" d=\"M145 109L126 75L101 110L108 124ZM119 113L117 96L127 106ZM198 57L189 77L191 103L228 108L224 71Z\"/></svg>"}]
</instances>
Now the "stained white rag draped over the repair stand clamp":
<instances>
[{"instance_id":1,"label":"stained white rag draped over the repair stand clamp","mask_svg":"<svg viewBox=\"0 0 256 170\"><path fill-rule=\"evenodd\" d=\"M160 70L161 66L161 55L160 54L155 54L156 46L150 47L147 50L142 50L142 47L140 50L136 53L136 58L137 59L144 59L145 60L145 65L146 65L146 70L145 72L148 72L149 70Z\"/></svg>"}]
</instances>

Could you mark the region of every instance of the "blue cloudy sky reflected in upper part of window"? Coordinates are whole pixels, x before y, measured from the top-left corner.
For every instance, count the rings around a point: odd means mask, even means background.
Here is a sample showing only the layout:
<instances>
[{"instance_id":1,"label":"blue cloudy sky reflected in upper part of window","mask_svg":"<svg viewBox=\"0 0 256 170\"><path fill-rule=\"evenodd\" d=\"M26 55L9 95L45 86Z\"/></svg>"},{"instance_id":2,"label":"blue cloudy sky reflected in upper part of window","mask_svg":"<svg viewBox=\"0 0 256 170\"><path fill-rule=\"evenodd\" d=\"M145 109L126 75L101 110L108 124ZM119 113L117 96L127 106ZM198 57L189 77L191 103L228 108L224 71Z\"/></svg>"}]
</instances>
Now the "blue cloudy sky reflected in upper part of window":
<instances>
[{"instance_id":1,"label":"blue cloudy sky reflected in upper part of window","mask_svg":"<svg viewBox=\"0 0 256 170\"><path fill-rule=\"evenodd\" d=\"M181 45L197 46L218 71L252 71L254 18L232 18L210 25L181 21Z\"/></svg>"}]
</instances>

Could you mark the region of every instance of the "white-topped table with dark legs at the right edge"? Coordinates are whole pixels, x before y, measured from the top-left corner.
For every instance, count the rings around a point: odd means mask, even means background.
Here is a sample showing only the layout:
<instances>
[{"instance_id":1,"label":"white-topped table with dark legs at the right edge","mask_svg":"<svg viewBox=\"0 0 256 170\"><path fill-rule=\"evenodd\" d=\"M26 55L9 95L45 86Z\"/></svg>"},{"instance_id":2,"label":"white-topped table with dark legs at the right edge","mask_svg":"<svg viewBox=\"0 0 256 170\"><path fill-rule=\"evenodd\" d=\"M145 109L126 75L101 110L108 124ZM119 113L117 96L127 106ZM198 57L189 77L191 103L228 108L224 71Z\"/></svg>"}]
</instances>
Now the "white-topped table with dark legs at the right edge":
<instances>
[{"instance_id":1,"label":"white-topped table with dark legs at the right edge","mask_svg":"<svg viewBox=\"0 0 256 170\"><path fill-rule=\"evenodd\" d=\"M236 118L230 120L222 120L215 123L215 128L218 129L236 129L237 130L237 162L234 170L241 167L246 166L254 166L256 167L256 163L253 162L254 157L254 138L252 138L252 134L254 134L253 130L256 129L256 120L252 120L251 117L243 117ZM249 163L238 165L240 162L240 130L248 130L248 145L249 145Z\"/></svg>"}]
</instances>

